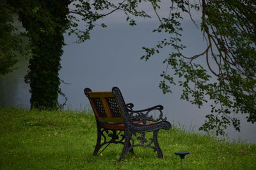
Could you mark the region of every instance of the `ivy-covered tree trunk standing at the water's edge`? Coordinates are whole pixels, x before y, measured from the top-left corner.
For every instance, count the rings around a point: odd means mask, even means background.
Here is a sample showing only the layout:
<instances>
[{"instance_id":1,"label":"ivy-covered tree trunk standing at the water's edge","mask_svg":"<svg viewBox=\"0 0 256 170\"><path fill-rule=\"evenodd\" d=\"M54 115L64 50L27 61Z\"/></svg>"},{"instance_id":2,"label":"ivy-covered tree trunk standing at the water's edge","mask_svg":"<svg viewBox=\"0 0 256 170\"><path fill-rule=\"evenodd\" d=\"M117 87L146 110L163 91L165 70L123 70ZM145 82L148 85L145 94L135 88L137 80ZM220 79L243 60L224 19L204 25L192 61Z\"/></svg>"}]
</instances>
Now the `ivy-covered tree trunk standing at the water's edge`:
<instances>
[{"instance_id":1,"label":"ivy-covered tree trunk standing at the water's edge","mask_svg":"<svg viewBox=\"0 0 256 170\"><path fill-rule=\"evenodd\" d=\"M32 56L25 77L30 85L31 108L58 108L60 60L64 45L63 32L68 25L69 3L63 0L10 1L31 43Z\"/></svg>"}]
</instances>

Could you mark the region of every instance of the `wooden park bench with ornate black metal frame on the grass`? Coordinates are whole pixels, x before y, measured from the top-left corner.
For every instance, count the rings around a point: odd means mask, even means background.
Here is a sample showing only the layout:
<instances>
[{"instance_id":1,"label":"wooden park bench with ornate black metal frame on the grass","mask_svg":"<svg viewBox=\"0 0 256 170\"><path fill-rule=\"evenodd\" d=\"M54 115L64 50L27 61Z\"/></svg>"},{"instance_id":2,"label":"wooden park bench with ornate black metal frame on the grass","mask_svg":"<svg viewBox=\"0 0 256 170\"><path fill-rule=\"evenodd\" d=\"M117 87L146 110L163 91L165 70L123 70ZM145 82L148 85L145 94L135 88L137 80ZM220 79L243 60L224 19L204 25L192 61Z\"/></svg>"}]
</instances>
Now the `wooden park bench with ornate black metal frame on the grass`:
<instances>
[{"instance_id":1,"label":"wooden park bench with ornate black metal frame on the grass","mask_svg":"<svg viewBox=\"0 0 256 170\"><path fill-rule=\"evenodd\" d=\"M97 122L97 143L93 155L99 151L102 153L111 143L121 143L124 147L119 160L123 160L127 152L134 153L136 146L152 148L158 158L163 158L157 133L160 129L171 128L170 122L163 118L163 106L132 110L134 105L125 104L117 87L113 87L111 92L92 92L86 88L84 94L90 101ZM156 112L159 112L158 118L154 118ZM151 133L146 135L146 132ZM152 138L148 138L148 134L152 134Z\"/></svg>"}]
</instances>

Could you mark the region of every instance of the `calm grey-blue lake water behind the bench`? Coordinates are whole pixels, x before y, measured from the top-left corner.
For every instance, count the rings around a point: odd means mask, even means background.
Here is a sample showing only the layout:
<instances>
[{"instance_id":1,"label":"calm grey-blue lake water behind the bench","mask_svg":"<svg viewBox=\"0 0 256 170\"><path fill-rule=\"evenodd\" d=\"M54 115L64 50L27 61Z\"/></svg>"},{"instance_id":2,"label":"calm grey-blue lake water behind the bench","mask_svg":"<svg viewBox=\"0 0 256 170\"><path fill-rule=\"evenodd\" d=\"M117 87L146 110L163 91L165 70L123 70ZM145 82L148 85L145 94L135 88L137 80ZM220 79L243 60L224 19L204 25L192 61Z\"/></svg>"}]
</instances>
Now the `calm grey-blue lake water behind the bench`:
<instances>
[{"instance_id":1,"label":"calm grey-blue lake water behind the bench","mask_svg":"<svg viewBox=\"0 0 256 170\"><path fill-rule=\"evenodd\" d=\"M204 50L200 31L195 31L191 23L185 22L184 25L184 45L188 46L185 53L194 55ZM180 100L179 87L172 87L173 94L165 95L158 87L162 80L159 75L166 68L162 62L172 49L163 50L147 62L140 60L144 54L142 46L154 46L164 38L164 34L152 33L154 26L156 23L150 22L136 27L111 24L107 29L95 29L92 39L82 44L73 43L76 38L65 34L67 45L63 48L60 78L68 83L61 84L68 97L66 109L81 110L88 106L88 99L83 93L85 87L105 91L116 86L122 90L127 103L134 103L135 109L162 104L164 115L170 122L198 131L210 111L209 105L198 109ZM28 60L20 59L17 66L13 73L0 76L0 104L29 108L29 85L24 83ZM60 102L63 102L62 97ZM243 115L238 117L241 118L241 132L229 128L230 140L243 139L256 143L256 125L246 122Z\"/></svg>"}]
</instances>

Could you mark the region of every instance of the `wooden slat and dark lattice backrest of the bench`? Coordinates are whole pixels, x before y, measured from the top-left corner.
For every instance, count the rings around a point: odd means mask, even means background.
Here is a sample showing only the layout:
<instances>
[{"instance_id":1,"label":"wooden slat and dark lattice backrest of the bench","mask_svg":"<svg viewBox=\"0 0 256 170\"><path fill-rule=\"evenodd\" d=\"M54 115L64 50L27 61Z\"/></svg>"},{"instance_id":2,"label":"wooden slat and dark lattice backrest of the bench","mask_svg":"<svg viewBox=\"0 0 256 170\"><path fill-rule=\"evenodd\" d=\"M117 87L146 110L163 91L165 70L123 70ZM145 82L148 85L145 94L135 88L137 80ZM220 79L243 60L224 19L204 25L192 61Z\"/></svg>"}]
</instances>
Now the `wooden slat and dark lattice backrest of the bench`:
<instances>
[{"instance_id":1,"label":"wooden slat and dark lattice backrest of the bench","mask_svg":"<svg viewBox=\"0 0 256 170\"><path fill-rule=\"evenodd\" d=\"M98 122L123 123L120 106L113 92L92 92L84 89Z\"/></svg>"}]
</instances>

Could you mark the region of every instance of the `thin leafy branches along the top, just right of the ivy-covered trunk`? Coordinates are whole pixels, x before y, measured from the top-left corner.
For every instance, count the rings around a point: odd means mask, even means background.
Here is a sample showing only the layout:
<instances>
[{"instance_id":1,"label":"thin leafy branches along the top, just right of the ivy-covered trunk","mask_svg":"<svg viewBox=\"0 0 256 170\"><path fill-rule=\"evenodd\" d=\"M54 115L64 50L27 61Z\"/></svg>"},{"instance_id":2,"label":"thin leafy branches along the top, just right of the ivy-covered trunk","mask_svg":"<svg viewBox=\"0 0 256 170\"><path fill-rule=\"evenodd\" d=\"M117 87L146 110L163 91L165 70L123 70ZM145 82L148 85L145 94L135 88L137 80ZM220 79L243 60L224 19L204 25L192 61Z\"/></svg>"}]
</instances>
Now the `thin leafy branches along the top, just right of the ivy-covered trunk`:
<instances>
[{"instance_id":1,"label":"thin leafy branches along the top, just right of the ivy-covered trunk","mask_svg":"<svg viewBox=\"0 0 256 170\"><path fill-rule=\"evenodd\" d=\"M90 39L90 31L96 26L107 27L106 24L101 22L101 19L111 15L117 10L124 11L127 15L126 20L129 25L136 25L136 22L131 17L150 17L143 10L138 10L138 4L141 1L83 1L83 0L73 0L70 4L70 15L68 19L70 20L70 25L68 28L68 34L76 34L77 43L82 43L86 39ZM81 29L81 25L84 24ZM79 27L80 26L80 27Z\"/></svg>"}]
</instances>

